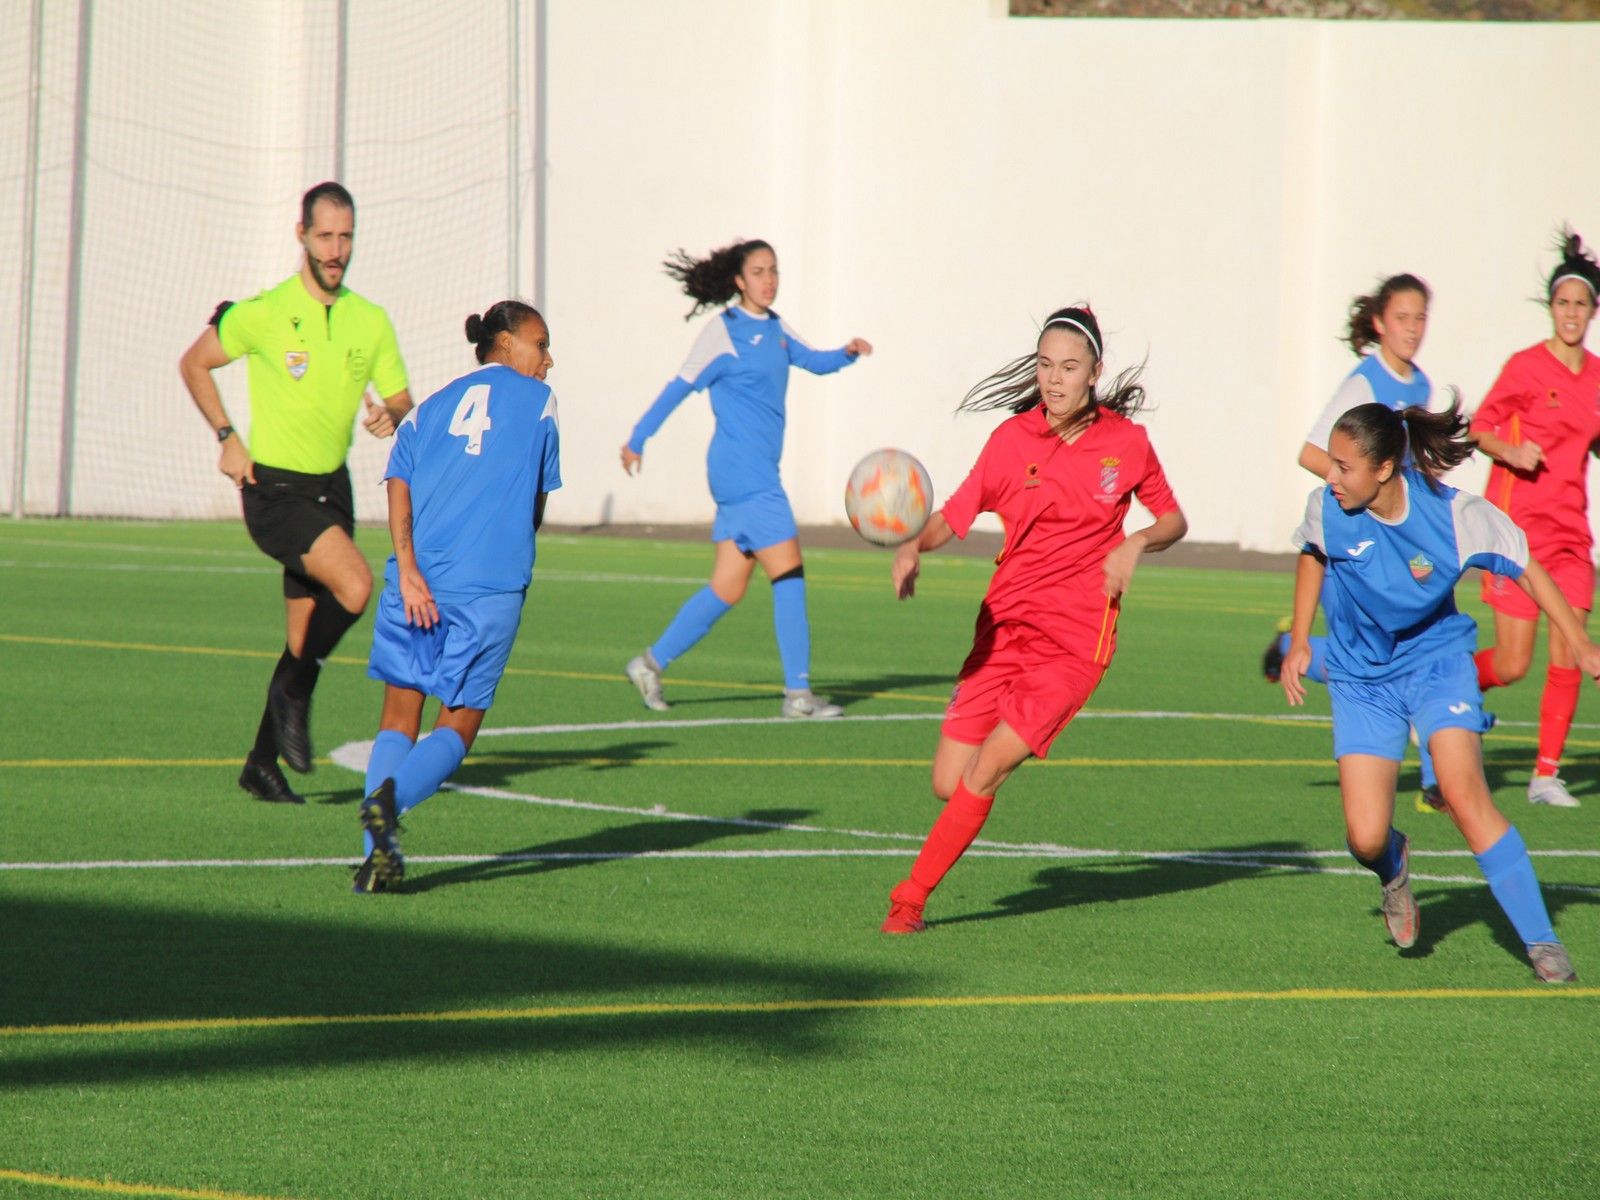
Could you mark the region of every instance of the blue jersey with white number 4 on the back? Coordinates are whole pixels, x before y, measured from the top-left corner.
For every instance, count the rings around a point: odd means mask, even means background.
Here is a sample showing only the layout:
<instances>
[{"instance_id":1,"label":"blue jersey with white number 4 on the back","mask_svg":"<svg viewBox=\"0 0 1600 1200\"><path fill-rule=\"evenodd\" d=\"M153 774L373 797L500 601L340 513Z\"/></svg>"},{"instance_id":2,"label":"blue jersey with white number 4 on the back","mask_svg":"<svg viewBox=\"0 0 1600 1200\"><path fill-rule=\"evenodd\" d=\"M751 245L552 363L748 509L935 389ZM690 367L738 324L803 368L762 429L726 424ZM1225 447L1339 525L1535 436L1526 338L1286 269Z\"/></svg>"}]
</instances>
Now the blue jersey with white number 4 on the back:
<instances>
[{"instance_id":1,"label":"blue jersey with white number 4 on the back","mask_svg":"<svg viewBox=\"0 0 1600 1200\"><path fill-rule=\"evenodd\" d=\"M522 592L534 502L562 486L555 395L498 363L464 374L406 413L384 478L411 488L416 563L435 600ZM384 579L398 579L394 555Z\"/></svg>"}]
</instances>

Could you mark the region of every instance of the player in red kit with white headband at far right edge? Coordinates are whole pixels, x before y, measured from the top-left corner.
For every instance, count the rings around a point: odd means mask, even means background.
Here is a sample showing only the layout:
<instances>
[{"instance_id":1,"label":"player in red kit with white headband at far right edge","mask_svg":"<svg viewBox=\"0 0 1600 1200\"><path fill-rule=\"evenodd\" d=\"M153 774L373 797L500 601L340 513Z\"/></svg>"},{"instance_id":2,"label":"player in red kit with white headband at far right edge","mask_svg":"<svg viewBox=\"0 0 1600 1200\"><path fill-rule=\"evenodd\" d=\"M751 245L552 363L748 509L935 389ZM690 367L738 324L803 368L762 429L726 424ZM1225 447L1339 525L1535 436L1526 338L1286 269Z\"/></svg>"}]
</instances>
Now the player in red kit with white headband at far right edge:
<instances>
[{"instance_id":1,"label":"player in red kit with white headband at far right edge","mask_svg":"<svg viewBox=\"0 0 1600 1200\"><path fill-rule=\"evenodd\" d=\"M1472 416L1478 450L1494 459L1485 494L1528 534L1528 549L1550 573L1566 603L1587 624L1594 608L1589 454L1600 440L1600 357L1584 349L1600 294L1600 264L1573 232L1546 298L1550 336L1518 350ZM1483 691L1515 683L1533 662L1539 610L1510 579L1483 576L1483 602L1494 610L1494 645L1477 654ZM1557 768L1578 712L1582 672L1573 646L1550 627L1550 664L1539 701L1539 755L1528 782L1536 805L1576 808Z\"/></svg>"}]
</instances>

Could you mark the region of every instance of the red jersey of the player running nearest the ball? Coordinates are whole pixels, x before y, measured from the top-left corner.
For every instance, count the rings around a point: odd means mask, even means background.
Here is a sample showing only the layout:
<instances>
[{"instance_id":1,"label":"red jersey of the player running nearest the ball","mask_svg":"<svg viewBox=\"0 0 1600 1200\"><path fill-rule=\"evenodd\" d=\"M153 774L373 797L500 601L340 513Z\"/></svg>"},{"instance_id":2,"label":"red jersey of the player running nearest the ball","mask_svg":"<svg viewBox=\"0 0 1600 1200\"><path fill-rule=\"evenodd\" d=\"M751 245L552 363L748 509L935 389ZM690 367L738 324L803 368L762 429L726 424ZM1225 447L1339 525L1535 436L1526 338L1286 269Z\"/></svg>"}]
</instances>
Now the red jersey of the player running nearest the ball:
<instances>
[{"instance_id":1,"label":"red jersey of the player running nearest the ball","mask_svg":"<svg viewBox=\"0 0 1600 1200\"><path fill-rule=\"evenodd\" d=\"M1157 517L1178 510L1149 435L1123 416L1102 410L1069 445L1040 405L989 435L942 509L958 538L979 512L1005 523L974 656L995 645L998 630L1026 627L1056 653L1110 662L1120 605L1106 595L1102 565L1123 542L1133 496Z\"/></svg>"}]
</instances>

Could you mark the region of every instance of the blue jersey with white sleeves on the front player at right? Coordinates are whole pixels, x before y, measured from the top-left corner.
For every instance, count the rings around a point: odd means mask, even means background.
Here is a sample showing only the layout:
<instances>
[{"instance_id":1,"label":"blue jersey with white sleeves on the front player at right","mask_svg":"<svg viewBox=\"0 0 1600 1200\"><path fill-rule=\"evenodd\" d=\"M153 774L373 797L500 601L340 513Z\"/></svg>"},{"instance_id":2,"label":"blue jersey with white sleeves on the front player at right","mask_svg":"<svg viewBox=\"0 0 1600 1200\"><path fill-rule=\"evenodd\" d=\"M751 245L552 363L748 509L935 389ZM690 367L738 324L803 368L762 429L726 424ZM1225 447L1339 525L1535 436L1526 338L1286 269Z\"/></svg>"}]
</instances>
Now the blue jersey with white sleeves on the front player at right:
<instances>
[{"instance_id":1,"label":"blue jersey with white sleeves on the front player at right","mask_svg":"<svg viewBox=\"0 0 1600 1200\"><path fill-rule=\"evenodd\" d=\"M1512 579L1528 565L1528 538L1482 496L1402 474L1405 512L1346 512L1317 488L1294 544L1326 558L1322 611L1328 678L1371 682L1477 648L1477 622L1456 610L1456 581L1472 566Z\"/></svg>"}]
</instances>

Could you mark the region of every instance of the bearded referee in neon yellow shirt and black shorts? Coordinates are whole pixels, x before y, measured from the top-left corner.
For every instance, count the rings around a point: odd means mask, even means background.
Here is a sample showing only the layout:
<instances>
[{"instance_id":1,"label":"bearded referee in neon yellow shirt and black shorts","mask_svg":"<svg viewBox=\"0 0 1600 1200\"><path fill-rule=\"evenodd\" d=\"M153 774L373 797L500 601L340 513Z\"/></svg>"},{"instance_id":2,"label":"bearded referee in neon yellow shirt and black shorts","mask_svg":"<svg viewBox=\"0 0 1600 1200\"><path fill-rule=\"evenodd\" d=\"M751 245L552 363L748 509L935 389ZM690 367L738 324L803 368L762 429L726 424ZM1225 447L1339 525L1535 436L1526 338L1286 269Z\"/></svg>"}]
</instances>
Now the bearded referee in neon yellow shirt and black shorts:
<instances>
[{"instance_id":1,"label":"bearded referee in neon yellow shirt and black shorts","mask_svg":"<svg viewBox=\"0 0 1600 1200\"><path fill-rule=\"evenodd\" d=\"M390 437L411 410L405 363L389 315L344 286L355 240L355 202L334 182L301 198L294 227L301 269L253 299L224 301L184 350L179 371L222 446L218 469L240 490L245 528L283 563L286 645L256 746L238 786L258 800L306 803L278 755L309 771L310 694L322 659L366 608L373 573L355 549L346 458L355 416ZM250 355L250 438L234 429L211 371ZM382 405L366 398L368 384Z\"/></svg>"}]
</instances>

